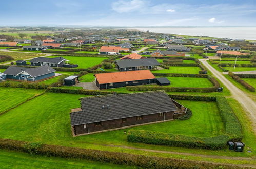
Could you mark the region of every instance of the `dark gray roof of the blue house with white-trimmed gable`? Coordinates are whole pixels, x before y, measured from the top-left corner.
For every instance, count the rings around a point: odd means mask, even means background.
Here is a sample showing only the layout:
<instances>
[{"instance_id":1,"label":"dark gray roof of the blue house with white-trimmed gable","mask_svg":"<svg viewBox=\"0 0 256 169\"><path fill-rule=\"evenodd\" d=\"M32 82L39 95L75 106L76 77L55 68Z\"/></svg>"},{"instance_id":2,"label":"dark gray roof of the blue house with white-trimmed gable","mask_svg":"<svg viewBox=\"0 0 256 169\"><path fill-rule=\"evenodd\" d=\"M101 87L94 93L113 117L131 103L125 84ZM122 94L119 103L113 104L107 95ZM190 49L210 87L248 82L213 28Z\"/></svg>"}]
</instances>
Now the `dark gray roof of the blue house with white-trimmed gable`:
<instances>
[{"instance_id":1,"label":"dark gray roof of the blue house with white-trimmed gable","mask_svg":"<svg viewBox=\"0 0 256 169\"><path fill-rule=\"evenodd\" d=\"M36 68L25 68L25 67L18 67L18 66L9 66L4 73L7 75L17 75L21 73L22 71L27 72L32 77L41 76L44 74L56 72L55 69L49 67L49 66L42 66L42 67L36 67Z\"/></svg>"}]
</instances>

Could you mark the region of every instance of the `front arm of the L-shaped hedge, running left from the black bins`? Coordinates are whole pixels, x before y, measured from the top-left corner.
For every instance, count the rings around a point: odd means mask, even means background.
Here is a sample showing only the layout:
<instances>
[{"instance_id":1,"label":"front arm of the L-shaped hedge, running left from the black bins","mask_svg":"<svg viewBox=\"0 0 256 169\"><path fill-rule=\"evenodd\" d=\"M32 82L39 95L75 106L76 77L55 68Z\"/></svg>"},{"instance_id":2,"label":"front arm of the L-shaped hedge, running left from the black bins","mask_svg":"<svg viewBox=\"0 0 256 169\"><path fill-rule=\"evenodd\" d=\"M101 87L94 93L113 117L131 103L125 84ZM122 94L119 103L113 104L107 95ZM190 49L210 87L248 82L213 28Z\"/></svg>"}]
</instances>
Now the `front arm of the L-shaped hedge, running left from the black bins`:
<instances>
[{"instance_id":1,"label":"front arm of the L-shaped hedge, running left from the black bins","mask_svg":"<svg viewBox=\"0 0 256 169\"><path fill-rule=\"evenodd\" d=\"M226 135L201 138L143 130L129 130L127 135L128 142L211 150L224 149L228 140L229 137Z\"/></svg>"}]
</instances>

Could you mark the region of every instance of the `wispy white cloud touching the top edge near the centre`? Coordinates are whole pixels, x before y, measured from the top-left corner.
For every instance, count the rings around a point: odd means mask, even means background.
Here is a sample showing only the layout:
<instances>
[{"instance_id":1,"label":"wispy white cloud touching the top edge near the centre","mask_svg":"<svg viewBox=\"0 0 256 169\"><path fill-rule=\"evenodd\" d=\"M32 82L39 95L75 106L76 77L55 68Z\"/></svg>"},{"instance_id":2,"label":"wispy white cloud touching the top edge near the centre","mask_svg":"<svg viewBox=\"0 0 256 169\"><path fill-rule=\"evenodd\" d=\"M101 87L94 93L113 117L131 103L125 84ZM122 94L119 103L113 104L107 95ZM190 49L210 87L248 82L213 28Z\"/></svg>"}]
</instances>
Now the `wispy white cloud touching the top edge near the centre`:
<instances>
[{"instance_id":1,"label":"wispy white cloud touching the top edge near the centre","mask_svg":"<svg viewBox=\"0 0 256 169\"><path fill-rule=\"evenodd\" d=\"M126 13L126 12L133 12L139 10L144 5L142 0L131 0L131 1L124 1L119 0L112 3L111 7L112 10L119 12L119 13Z\"/></svg>"}]
</instances>

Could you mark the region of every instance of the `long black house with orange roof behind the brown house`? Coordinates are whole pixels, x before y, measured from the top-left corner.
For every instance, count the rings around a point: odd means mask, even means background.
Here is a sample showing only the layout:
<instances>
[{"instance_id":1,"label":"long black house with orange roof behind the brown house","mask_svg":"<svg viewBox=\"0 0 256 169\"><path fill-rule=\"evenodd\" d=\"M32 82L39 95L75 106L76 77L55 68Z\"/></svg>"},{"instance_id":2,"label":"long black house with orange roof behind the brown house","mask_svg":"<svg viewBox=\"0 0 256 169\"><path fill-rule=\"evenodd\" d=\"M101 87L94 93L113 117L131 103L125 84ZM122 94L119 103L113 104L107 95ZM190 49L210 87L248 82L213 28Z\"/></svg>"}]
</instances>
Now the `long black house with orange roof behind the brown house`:
<instances>
[{"instance_id":1,"label":"long black house with orange roof behind the brown house","mask_svg":"<svg viewBox=\"0 0 256 169\"><path fill-rule=\"evenodd\" d=\"M96 77L96 85L100 89L155 83L155 76L150 72L150 70L99 73L94 74L94 76Z\"/></svg>"}]
</instances>

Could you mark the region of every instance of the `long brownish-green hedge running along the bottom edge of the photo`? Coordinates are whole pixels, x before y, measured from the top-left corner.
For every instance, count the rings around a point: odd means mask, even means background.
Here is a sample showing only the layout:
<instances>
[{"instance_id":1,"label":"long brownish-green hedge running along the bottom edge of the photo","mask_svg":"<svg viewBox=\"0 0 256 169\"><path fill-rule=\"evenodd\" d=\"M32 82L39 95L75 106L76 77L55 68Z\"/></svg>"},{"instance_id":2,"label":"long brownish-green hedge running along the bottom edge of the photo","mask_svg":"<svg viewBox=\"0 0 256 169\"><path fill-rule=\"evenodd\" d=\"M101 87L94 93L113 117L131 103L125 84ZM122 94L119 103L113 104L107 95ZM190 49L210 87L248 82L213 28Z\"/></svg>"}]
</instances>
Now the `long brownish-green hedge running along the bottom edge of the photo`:
<instances>
[{"instance_id":1,"label":"long brownish-green hedge running along the bottom edge of the photo","mask_svg":"<svg viewBox=\"0 0 256 169\"><path fill-rule=\"evenodd\" d=\"M26 152L34 155L84 159L99 161L102 163L131 165L139 168L238 168L238 166L229 164L215 164L210 162L192 161L185 159L81 149L76 147L31 143L10 139L0 139L0 148Z\"/></svg>"}]
</instances>

